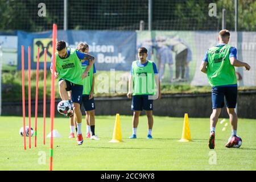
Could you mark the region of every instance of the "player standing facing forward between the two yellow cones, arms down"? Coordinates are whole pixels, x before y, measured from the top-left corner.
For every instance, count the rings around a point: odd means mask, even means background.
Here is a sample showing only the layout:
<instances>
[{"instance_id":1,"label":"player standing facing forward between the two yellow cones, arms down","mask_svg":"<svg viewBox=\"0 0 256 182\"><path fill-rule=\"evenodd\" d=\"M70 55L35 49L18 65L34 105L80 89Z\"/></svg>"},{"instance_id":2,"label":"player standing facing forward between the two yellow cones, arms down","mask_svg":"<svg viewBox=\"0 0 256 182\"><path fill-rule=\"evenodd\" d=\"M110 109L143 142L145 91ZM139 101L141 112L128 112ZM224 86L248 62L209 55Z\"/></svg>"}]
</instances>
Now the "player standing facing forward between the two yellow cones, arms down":
<instances>
[{"instance_id":1,"label":"player standing facing forward between the two yellow cones, arms down","mask_svg":"<svg viewBox=\"0 0 256 182\"><path fill-rule=\"evenodd\" d=\"M131 139L137 138L137 127L139 124L139 115L141 111L146 110L148 121L147 139L152 139L153 119L153 98L155 94L155 84L158 88L158 98L161 97L159 76L154 62L147 60L147 49L141 47L138 49L139 60L133 61L131 65L131 76L129 78L129 92L127 97L133 96L131 109L133 113L133 135Z\"/></svg>"}]
</instances>

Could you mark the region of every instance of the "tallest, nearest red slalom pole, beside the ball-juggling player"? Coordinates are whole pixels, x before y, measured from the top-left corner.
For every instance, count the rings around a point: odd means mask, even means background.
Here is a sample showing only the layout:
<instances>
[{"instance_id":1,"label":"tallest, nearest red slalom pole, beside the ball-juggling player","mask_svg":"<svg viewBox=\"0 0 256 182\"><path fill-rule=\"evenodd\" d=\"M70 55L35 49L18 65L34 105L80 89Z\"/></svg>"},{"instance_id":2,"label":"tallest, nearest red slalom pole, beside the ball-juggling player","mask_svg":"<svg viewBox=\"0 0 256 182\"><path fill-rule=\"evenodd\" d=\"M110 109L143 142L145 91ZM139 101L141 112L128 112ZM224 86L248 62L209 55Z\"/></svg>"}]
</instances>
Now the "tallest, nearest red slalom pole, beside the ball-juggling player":
<instances>
[{"instance_id":1,"label":"tallest, nearest red slalom pole, beside the ball-juggling player","mask_svg":"<svg viewBox=\"0 0 256 182\"><path fill-rule=\"evenodd\" d=\"M53 163L53 122L55 117L55 70L56 70L56 38L57 38L57 24L53 24L52 26L52 84L51 84L51 156L50 156L50 171L52 171L52 163Z\"/></svg>"}]
</instances>

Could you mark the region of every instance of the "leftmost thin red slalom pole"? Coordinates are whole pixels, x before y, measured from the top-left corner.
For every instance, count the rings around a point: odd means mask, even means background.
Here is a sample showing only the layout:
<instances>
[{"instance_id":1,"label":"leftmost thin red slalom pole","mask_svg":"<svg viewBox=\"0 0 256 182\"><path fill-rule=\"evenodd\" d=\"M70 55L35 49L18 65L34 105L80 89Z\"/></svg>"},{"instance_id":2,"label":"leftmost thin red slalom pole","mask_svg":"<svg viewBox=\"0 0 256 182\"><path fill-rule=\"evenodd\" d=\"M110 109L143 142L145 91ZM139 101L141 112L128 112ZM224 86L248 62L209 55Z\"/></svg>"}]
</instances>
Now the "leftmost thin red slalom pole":
<instances>
[{"instance_id":1,"label":"leftmost thin red slalom pole","mask_svg":"<svg viewBox=\"0 0 256 182\"><path fill-rule=\"evenodd\" d=\"M24 150L26 147L26 111L25 111L25 78L24 78L24 46L22 46L22 114L23 114L23 139Z\"/></svg>"}]
</instances>

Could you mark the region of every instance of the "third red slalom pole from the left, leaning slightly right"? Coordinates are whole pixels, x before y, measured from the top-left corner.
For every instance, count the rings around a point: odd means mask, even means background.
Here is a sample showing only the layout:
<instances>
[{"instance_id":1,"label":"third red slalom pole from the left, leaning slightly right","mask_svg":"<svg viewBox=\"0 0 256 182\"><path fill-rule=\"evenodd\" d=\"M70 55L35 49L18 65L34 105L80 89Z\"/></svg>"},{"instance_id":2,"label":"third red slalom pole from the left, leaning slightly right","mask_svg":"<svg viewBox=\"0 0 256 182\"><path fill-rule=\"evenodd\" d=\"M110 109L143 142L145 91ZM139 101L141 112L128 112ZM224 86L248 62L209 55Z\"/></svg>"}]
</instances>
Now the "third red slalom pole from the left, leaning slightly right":
<instances>
[{"instance_id":1,"label":"third red slalom pole from the left, leaning slightly right","mask_svg":"<svg viewBox=\"0 0 256 182\"><path fill-rule=\"evenodd\" d=\"M38 47L38 59L36 62L36 100L35 100L35 147L36 147L36 136L38 134L38 82L39 82L39 52Z\"/></svg>"}]
</instances>

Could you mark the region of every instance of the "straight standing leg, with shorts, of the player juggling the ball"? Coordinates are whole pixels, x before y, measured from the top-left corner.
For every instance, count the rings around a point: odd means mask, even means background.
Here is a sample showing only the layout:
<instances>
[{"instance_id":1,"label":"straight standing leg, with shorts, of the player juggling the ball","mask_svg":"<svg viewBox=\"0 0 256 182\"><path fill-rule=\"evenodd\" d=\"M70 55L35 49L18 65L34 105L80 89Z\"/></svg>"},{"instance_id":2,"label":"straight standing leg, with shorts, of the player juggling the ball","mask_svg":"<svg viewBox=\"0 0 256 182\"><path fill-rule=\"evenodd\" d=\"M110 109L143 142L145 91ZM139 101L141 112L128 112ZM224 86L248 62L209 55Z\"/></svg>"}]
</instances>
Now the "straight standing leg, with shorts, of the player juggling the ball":
<instances>
[{"instance_id":1,"label":"straight standing leg, with shorts, of the player juggling the ball","mask_svg":"<svg viewBox=\"0 0 256 182\"><path fill-rule=\"evenodd\" d=\"M80 110L80 105L82 102L82 85L72 84L72 101L73 101L73 110L74 117L77 123L77 143L81 145L84 140L82 138L82 113Z\"/></svg>"}]
</instances>

